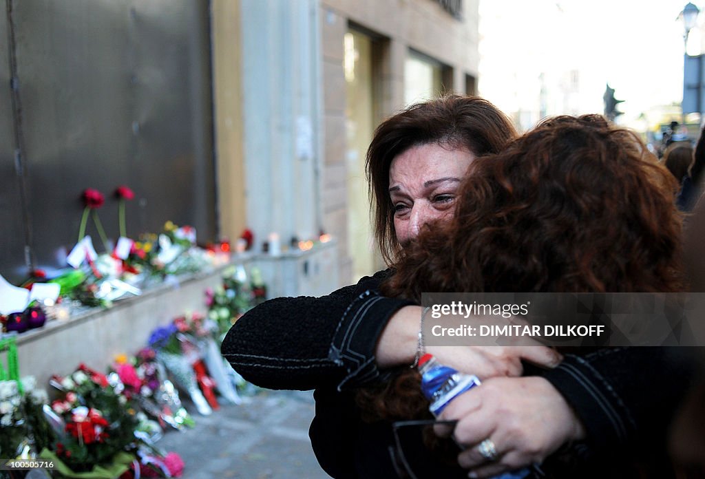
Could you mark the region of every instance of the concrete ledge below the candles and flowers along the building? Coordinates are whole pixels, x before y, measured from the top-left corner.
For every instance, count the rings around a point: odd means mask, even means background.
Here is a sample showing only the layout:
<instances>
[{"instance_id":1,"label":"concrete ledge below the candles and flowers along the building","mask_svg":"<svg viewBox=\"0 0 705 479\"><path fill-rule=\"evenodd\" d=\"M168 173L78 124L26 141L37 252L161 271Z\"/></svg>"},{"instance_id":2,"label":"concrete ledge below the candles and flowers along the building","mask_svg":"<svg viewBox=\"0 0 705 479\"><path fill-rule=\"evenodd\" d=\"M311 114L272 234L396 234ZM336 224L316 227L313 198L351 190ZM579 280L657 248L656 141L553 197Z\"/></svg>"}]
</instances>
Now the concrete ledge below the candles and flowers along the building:
<instances>
[{"instance_id":1,"label":"concrete ledge below the candles and flowers along the building","mask_svg":"<svg viewBox=\"0 0 705 479\"><path fill-rule=\"evenodd\" d=\"M245 253L228 265L182 275L149 287L140 296L118 300L110 309L91 308L66 321L49 321L43 328L18 335L20 375L34 375L47 385L52 374L71 373L79 363L105 371L117 354L135 354L147 345L149 333L187 311L205 313L205 290L221 283L225 268L243 265L262 271L268 297L327 294L338 285L336 244L319 244L310 251L281 256ZM6 354L0 354L6 363Z\"/></svg>"}]
</instances>

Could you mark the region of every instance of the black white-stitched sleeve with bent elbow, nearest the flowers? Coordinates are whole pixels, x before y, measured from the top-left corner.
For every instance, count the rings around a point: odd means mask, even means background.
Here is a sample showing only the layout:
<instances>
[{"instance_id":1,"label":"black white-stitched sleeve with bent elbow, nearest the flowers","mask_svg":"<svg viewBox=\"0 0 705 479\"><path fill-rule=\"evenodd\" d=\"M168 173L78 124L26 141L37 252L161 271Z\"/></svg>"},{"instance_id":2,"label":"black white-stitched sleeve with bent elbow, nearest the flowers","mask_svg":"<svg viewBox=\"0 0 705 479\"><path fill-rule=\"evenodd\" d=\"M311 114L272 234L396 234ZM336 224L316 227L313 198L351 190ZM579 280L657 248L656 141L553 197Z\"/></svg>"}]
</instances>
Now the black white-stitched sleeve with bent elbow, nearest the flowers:
<instances>
[{"instance_id":1,"label":"black white-stitched sleeve with bent elbow, nearest the flowers","mask_svg":"<svg viewBox=\"0 0 705 479\"><path fill-rule=\"evenodd\" d=\"M381 271L324 297L276 298L248 311L223 340L221 353L260 387L308 390L355 387L379 377L377 339L403 299L381 297Z\"/></svg>"}]
</instances>

